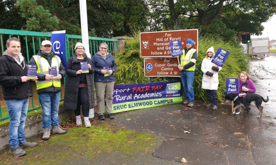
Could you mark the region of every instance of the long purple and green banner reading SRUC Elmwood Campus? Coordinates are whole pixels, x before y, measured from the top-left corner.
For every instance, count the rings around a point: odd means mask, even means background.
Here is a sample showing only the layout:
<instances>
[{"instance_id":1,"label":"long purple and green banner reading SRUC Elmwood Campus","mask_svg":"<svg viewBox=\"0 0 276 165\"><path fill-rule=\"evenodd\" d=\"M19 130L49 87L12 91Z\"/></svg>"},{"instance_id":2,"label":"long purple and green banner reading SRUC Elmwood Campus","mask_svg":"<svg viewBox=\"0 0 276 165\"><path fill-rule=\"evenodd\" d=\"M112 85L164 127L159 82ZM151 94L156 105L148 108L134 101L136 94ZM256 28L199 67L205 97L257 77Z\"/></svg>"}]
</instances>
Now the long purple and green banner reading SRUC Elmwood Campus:
<instances>
[{"instance_id":1,"label":"long purple and green banner reading SRUC Elmwood Campus","mask_svg":"<svg viewBox=\"0 0 276 165\"><path fill-rule=\"evenodd\" d=\"M114 85L113 113L134 109L149 108L182 102L182 84L180 80Z\"/></svg>"}]
</instances>

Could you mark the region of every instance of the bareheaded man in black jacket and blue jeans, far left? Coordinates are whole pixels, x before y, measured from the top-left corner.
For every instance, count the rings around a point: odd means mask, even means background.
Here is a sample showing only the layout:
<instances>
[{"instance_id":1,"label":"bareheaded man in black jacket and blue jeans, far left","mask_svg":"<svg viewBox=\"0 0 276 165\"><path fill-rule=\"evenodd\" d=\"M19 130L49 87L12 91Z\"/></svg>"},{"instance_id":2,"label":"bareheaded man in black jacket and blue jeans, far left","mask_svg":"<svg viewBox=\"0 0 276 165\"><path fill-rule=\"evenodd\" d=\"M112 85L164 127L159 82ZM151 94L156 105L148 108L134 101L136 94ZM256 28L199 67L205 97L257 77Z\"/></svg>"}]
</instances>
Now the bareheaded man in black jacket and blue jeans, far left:
<instances>
[{"instance_id":1,"label":"bareheaded man in black jacket and blue jeans, far left","mask_svg":"<svg viewBox=\"0 0 276 165\"><path fill-rule=\"evenodd\" d=\"M0 84L3 86L3 97L10 116L9 144L10 153L22 156L26 152L22 148L37 145L36 142L26 141L25 120L29 98L33 96L30 78L27 77L27 62L20 53L21 43L16 37L9 38L7 50L0 57ZM34 80L37 80L35 77Z\"/></svg>"}]
</instances>

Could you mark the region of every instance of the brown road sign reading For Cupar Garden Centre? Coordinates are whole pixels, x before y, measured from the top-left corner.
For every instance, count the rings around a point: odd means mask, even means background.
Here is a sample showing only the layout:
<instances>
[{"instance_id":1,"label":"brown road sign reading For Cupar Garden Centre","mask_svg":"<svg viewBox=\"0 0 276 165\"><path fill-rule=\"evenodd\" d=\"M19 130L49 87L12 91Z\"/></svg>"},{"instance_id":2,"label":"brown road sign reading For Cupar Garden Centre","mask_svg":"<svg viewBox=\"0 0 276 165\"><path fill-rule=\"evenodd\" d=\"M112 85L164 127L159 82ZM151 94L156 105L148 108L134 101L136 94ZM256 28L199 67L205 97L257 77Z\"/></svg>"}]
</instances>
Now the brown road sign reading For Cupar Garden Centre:
<instances>
[{"instance_id":1,"label":"brown road sign reading For Cupar Garden Centre","mask_svg":"<svg viewBox=\"0 0 276 165\"><path fill-rule=\"evenodd\" d=\"M180 77L177 57L144 58L145 77Z\"/></svg>"}]
</instances>

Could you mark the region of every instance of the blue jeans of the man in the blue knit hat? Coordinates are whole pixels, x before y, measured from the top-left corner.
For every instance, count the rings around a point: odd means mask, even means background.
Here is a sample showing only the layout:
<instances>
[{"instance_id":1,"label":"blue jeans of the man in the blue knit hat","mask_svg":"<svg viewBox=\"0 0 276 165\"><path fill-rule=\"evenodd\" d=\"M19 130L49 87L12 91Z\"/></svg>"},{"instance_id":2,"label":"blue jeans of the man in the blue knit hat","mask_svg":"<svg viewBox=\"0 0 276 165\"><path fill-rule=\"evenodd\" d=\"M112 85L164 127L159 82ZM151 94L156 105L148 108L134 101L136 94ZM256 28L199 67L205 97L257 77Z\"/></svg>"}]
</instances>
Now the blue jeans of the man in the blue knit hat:
<instances>
[{"instance_id":1,"label":"blue jeans of the man in the blue knit hat","mask_svg":"<svg viewBox=\"0 0 276 165\"><path fill-rule=\"evenodd\" d=\"M193 94L193 79L195 71L181 71L181 81L184 88L185 99L189 102L195 103L195 96Z\"/></svg>"}]
</instances>

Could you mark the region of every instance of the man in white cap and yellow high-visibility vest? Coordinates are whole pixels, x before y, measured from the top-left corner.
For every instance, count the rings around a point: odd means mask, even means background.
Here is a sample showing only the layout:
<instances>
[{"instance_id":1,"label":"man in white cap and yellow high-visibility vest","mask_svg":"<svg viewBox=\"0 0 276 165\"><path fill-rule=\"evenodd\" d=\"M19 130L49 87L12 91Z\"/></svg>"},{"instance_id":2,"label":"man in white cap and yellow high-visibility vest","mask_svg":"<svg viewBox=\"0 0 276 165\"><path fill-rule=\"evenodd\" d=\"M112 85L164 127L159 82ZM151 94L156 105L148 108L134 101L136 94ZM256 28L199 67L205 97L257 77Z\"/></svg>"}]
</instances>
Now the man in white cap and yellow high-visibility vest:
<instances>
[{"instance_id":1,"label":"man in white cap and yellow high-visibility vest","mask_svg":"<svg viewBox=\"0 0 276 165\"><path fill-rule=\"evenodd\" d=\"M41 50L34 55L29 64L37 66L36 89L39 96L39 102L42 107L42 124L44 134L42 139L50 138L52 128L53 134L65 134L58 123L58 108L60 102L60 79L66 74L65 68L58 56L55 56L52 50L52 43L44 40L41 43ZM50 71L49 71L50 70ZM51 74L49 74L51 73Z\"/></svg>"}]
</instances>

